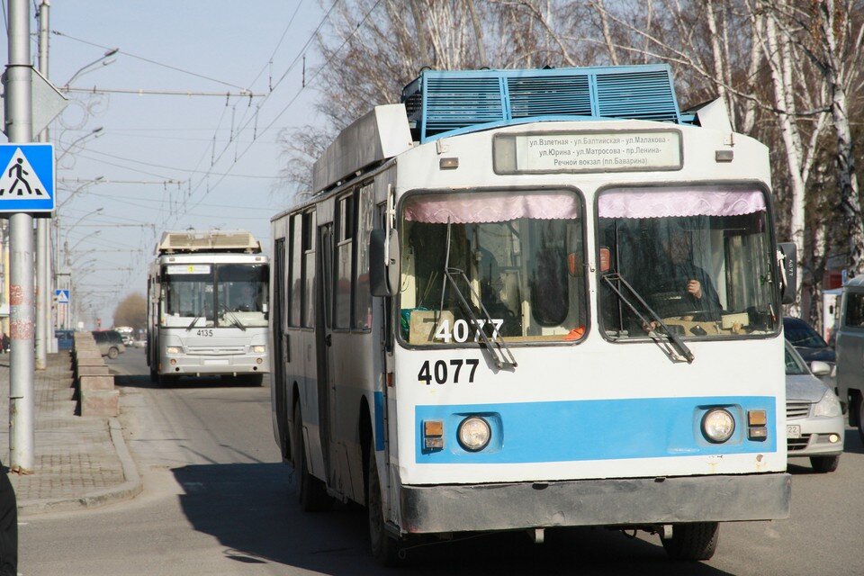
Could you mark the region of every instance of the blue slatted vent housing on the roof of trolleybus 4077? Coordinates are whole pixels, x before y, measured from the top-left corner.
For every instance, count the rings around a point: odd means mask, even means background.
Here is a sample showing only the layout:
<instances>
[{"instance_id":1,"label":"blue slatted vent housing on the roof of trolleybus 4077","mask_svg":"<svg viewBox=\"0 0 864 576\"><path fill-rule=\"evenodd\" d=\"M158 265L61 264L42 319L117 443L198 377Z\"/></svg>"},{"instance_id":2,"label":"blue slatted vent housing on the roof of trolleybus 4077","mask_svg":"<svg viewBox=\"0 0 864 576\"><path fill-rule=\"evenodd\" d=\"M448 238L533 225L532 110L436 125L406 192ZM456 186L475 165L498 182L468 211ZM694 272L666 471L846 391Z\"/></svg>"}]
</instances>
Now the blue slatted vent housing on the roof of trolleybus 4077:
<instances>
[{"instance_id":1,"label":"blue slatted vent housing on the roof of trolleybus 4077","mask_svg":"<svg viewBox=\"0 0 864 576\"><path fill-rule=\"evenodd\" d=\"M666 64L424 70L402 90L402 102L420 142L564 118L682 122Z\"/></svg>"}]
</instances>

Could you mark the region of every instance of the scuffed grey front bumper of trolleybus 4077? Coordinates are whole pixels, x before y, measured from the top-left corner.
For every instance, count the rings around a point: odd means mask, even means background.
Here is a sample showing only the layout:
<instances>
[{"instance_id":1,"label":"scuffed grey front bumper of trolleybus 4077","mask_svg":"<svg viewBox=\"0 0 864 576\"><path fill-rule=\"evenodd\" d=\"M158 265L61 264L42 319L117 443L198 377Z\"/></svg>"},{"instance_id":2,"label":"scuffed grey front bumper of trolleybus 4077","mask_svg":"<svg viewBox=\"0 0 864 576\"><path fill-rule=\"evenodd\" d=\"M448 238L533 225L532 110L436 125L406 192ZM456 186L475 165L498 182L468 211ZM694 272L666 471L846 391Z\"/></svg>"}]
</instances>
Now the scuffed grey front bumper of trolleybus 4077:
<instances>
[{"instance_id":1,"label":"scuffed grey front bumper of trolleybus 4077","mask_svg":"<svg viewBox=\"0 0 864 576\"><path fill-rule=\"evenodd\" d=\"M415 534L788 518L788 473L403 486Z\"/></svg>"}]
</instances>

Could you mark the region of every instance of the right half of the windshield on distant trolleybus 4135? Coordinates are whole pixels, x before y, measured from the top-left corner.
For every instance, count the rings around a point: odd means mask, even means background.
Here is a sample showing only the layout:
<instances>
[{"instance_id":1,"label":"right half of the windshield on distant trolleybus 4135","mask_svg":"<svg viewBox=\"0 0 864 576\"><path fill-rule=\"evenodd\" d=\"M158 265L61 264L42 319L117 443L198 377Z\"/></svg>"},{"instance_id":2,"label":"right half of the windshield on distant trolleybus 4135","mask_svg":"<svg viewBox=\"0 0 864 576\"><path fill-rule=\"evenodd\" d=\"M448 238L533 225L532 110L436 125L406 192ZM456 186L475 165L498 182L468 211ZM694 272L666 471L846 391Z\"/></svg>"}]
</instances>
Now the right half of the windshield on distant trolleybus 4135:
<instances>
[{"instance_id":1,"label":"right half of the windshield on distant trolleybus 4135","mask_svg":"<svg viewBox=\"0 0 864 576\"><path fill-rule=\"evenodd\" d=\"M267 325L268 267L263 264L220 264L216 268L219 326Z\"/></svg>"}]
</instances>

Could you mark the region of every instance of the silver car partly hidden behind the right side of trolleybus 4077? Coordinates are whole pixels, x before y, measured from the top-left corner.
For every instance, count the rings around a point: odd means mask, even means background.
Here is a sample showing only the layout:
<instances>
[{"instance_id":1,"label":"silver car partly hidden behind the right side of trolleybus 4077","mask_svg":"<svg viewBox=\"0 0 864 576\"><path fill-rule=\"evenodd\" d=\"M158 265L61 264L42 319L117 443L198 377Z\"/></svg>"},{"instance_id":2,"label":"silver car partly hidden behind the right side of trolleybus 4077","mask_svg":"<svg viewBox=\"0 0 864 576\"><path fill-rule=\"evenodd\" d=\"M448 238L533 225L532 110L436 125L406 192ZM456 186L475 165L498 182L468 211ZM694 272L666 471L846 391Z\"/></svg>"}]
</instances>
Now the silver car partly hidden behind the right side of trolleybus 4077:
<instances>
[{"instance_id":1,"label":"silver car partly hidden behind the right side of trolleybus 4077","mask_svg":"<svg viewBox=\"0 0 864 576\"><path fill-rule=\"evenodd\" d=\"M795 347L786 343L788 457L809 457L810 464L818 473L837 469L846 427L837 395L815 377L830 371L831 368L821 360L814 360L808 367Z\"/></svg>"}]
</instances>

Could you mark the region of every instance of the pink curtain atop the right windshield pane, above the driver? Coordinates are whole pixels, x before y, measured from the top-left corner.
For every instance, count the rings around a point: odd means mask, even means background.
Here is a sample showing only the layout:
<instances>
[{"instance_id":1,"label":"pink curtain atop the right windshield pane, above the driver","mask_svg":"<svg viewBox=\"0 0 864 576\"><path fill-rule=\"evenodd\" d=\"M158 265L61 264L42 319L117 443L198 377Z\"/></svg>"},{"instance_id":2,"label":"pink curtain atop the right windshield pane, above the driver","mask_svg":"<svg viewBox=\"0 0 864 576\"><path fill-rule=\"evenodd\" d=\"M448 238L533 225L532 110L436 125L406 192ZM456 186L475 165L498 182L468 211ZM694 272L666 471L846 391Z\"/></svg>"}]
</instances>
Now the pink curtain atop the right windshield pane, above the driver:
<instances>
[{"instance_id":1,"label":"pink curtain atop the right windshield pane, above the driver","mask_svg":"<svg viewBox=\"0 0 864 576\"><path fill-rule=\"evenodd\" d=\"M675 216L739 216L765 211L758 190L658 190L600 193L600 218L663 218Z\"/></svg>"}]
</instances>

